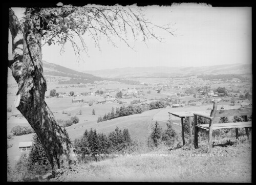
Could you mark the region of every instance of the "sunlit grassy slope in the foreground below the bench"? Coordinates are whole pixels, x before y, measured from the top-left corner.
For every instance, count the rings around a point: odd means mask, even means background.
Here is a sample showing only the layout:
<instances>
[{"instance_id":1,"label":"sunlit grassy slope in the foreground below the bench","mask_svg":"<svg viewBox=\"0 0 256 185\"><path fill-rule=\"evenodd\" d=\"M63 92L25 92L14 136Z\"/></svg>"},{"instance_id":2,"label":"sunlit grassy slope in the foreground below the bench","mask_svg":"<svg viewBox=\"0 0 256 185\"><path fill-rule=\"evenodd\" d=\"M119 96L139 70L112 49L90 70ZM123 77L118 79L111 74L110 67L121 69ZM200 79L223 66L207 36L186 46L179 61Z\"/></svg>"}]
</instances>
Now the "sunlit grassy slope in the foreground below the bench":
<instances>
[{"instance_id":1,"label":"sunlit grassy slope in the foreground below the bench","mask_svg":"<svg viewBox=\"0 0 256 185\"><path fill-rule=\"evenodd\" d=\"M222 142L227 140L223 138ZM206 153L206 143L201 143L199 149L185 145L147 153L169 156L134 154L77 165L51 181L251 182L251 142L234 141L212 148L211 155Z\"/></svg>"}]
</instances>

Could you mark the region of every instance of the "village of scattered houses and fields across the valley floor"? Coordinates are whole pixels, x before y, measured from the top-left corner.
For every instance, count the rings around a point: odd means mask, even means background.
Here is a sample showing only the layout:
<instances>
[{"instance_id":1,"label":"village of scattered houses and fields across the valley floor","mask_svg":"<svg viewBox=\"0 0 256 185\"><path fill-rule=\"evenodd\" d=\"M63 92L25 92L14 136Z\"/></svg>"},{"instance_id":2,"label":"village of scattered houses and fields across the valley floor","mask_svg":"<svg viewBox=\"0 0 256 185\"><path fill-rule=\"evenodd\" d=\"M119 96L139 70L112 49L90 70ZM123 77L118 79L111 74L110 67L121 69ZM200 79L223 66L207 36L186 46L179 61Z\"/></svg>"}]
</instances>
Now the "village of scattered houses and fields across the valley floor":
<instances>
[{"instance_id":1,"label":"village of scattered houses and fields across the valley floor","mask_svg":"<svg viewBox=\"0 0 256 185\"><path fill-rule=\"evenodd\" d=\"M210 103L214 98L217 98L220 102L230 102L232 99L233 104L242 103L241 106L251 103L247 100L244 102L245 97L252 96L250 81L233 79L223 82L196 80L196 78L176 78L172 79L175 80L175 83L173 83L170 78L162 80L165 81L158 81L157 83L141 82L135 85L125 85L120 82L106 80L67 86L49 85L56 91L54 95L49 94L45 97L72 98L72 103L83 102L83 104L88 105L92 103L130 104L133 100L140 100L140 104L143 105L161 99L169 102L171 107L183 107Z\"/></svg>"}]
</instances>

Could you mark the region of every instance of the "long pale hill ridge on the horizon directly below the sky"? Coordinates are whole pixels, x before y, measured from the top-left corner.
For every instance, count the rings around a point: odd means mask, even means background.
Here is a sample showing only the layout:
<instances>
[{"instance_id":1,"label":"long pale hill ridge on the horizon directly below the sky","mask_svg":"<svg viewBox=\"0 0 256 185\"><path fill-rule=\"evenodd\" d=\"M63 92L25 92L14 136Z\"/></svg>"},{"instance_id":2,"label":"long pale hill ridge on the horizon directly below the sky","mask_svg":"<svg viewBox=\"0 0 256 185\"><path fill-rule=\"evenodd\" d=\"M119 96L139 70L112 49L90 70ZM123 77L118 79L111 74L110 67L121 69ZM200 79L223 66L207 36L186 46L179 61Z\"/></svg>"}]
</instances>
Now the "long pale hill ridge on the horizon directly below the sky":
<instances>
[{"instance_id":1,"label":"long pale hill ridge on the horizon directly below the sky","mask_svg":"<svg viewBox=\"0 0 256 185\"><path fill-rule=\"evenodd\" d=\"M84 71L102 78L175 77L218 74L251 74L251 64L225 64L200 67L125 67Z\"/></svg>"}]
</instances>

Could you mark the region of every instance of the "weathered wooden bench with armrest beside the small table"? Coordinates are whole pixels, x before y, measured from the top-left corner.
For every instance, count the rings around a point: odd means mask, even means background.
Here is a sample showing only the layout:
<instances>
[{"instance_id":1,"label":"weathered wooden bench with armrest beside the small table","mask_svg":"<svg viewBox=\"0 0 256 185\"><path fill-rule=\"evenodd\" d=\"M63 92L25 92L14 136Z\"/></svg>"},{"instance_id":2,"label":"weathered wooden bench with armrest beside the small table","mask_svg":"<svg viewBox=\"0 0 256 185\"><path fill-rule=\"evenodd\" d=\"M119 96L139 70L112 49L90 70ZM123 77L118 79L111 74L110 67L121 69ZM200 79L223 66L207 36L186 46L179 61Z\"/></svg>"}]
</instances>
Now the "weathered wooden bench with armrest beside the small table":
<instances>
[{"instance_id":1,"label":"weathered wooden bench with armrest beside the small table","mask_svg":"<svg viewBox=\"0 0 256 185\"><path fill-rule=\"evenodd\" d=\"M247 136L249 135L248 128L251 131L251 121L248 122L247 115L252 114L252 108L237 108L237 109L218 109L218 102L214 101L214 107L211 110L210 116L203 115L200 113L194 113L194 128L195 128L195 138L194 145L198 148L198 132L206 132L208 134L208 152L210 152L212 147L212 131L225 128L236 128L236 137L238 138L238 129L245 128ZM244 115L244 122L236 123L219 123L220 117L233 117L233 116ZM198 125L198 117L203 117L209 120L209 124Z\"/></svg>"}]
</instances>

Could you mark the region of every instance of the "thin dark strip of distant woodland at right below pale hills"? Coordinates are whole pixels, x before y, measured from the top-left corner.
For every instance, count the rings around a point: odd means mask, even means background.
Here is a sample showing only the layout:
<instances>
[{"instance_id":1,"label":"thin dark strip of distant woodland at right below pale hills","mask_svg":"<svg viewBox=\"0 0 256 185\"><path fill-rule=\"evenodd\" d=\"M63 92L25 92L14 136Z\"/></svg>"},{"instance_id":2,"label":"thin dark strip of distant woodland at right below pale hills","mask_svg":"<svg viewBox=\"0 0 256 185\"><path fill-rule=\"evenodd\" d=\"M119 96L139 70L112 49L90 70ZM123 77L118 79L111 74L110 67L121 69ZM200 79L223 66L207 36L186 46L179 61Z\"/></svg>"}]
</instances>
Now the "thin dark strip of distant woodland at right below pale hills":
<instances>
[{"instance_id":1,"label":"thin dark strip of distant woodland at right below pale hills","mask_svg":"<svg viewBox=\"0 0 256 185\"><path fill-rule=\"evenodd\" d=\"M221 75L199 75L197 78L202 78L203 80L232 80L233 78L238 78L240 80L248 80L247 77L243 77L238 74L221 74Z\"/></svg>"}]
</instances>

